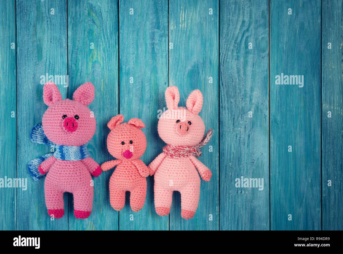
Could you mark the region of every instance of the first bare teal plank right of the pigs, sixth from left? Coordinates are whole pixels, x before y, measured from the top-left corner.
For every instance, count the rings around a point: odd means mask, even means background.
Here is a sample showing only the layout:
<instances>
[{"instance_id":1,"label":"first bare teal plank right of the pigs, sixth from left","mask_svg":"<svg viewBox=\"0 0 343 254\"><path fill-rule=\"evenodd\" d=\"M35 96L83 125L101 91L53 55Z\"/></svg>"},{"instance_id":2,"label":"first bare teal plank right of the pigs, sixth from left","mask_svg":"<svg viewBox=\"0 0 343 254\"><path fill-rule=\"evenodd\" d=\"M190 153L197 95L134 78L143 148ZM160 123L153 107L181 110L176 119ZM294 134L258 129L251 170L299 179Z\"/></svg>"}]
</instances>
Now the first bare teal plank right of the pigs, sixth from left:
<instances>
[{"instance_id":1,"label":"first bare teal plank right of the pigs, sixth from left","mask_svg":"<svg viewBox=\"0 0 343 254\"><path fill-rule=\"evenodd\" d=\"M269 1L220 1L221 230L269 230L268 76Z\"/></svg>"}]
</instances>

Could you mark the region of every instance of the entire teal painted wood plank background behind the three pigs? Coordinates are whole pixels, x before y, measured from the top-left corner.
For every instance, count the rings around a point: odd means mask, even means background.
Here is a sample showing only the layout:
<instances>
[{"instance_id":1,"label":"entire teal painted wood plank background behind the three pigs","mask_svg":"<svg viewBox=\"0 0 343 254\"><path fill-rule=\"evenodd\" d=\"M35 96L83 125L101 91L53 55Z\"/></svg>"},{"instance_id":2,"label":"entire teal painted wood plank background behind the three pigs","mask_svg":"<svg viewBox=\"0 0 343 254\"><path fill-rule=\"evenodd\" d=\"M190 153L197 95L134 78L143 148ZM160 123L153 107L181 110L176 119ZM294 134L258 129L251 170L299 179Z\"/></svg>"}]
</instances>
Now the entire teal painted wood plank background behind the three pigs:
<instances>
[{"instance_id":1,"label":"entire teal painted wood plank background behind the three pigs","mask_svg":"<svg viewBox=\"0 0 343 254\"><path fill-rule=\"evenodd\" d=\"M0 229L342 230L342 8L340 0L2 1L0 181L27 179L27 189L0 188ZM200 89L214 135L202 148L212 178L201 182L194 218L180 217L178 193L170 215L158 216L151 176L141 211L129 194L115 211L110 170L94 178L89 218L75 219L65 194L68 212L50 220L44 178L26 169L49 152L29 140L47 108L46 73L68 75L58 84L63 99L94 84L88 149L98 163L112 159L106 124L120 113L145 123L149 164L164 146L157 111L167 86L178 86L181 106ZM304 85L275 83L277 75L303 75ZM263 189L237 187L242 176L263 178Z\"/></svg>"}]
</instances>

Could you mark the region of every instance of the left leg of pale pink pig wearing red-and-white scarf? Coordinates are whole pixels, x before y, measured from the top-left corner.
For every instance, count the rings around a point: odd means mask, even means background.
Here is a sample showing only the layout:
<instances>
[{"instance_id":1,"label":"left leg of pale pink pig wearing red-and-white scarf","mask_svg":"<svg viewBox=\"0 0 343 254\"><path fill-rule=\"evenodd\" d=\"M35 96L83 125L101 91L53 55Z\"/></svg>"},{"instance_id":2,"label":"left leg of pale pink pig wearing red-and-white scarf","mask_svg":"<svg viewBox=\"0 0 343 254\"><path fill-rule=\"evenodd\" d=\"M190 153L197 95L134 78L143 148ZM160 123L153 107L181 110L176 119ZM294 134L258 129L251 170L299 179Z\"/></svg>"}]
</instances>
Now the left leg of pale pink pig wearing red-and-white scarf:
<instances>
[{"instance_id":1,"label":"left leg of pale pink pig wearing red-and-white scarf","mask_svg":"<svg viewBox=\"0 0 343 254\"><path fill-rule=\"evenodd\" d=\"M154 196L156 213L159 216L168 215L170 212L171 201L173 200L173 190L169 190L155 184Z\"/></svg>"}]
</instances>

